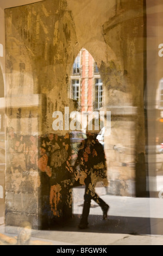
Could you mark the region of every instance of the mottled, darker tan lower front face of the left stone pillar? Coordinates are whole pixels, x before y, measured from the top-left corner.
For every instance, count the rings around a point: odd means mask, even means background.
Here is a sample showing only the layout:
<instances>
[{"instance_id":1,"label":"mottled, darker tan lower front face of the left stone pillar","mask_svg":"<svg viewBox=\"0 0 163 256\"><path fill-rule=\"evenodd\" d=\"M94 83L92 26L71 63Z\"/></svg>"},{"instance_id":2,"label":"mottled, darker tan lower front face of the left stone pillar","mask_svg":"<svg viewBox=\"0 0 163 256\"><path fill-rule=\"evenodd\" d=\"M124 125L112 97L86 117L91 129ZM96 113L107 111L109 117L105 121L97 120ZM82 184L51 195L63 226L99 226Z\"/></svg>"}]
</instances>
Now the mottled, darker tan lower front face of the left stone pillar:
<instances>
[{"instance_id":1,"label":"mottled, darker tan lower front face of the left stone pillar","mask_svg":"<svg viewBox=\"0 0 163 256\"><path fill-rule=\"evenodd\" d=\"M37 138L22 136L8 129L7 169L5 173L5 222L21 226L29 221L33 228L39 224L37 172Z\"/></svg>"}]
</instances>

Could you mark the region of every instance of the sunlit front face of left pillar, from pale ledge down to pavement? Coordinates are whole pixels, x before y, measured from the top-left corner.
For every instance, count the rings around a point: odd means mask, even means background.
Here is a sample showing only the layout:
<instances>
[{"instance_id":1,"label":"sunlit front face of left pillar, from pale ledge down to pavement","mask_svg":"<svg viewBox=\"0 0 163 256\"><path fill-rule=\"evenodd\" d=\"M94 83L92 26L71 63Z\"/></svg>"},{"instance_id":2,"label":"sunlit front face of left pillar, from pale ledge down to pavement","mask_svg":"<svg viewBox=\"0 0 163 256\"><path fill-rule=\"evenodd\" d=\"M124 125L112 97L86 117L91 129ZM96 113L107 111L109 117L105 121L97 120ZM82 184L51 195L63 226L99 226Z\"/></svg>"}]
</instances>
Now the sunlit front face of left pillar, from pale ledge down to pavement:
<instances>
[{"instance_id":1,"label":"sunlit front face of left pillar, from pale ledge down to pavement","mask_svg":"<svg viewBox=\"0 0 163 256\"><path fill-rule=\"evenodd\" d=\"M5 172L5 224L21 227L39 223L40 176L38 157L39 95L12 96L7 100L7 145Z\"/></svg>"}]
</instances>

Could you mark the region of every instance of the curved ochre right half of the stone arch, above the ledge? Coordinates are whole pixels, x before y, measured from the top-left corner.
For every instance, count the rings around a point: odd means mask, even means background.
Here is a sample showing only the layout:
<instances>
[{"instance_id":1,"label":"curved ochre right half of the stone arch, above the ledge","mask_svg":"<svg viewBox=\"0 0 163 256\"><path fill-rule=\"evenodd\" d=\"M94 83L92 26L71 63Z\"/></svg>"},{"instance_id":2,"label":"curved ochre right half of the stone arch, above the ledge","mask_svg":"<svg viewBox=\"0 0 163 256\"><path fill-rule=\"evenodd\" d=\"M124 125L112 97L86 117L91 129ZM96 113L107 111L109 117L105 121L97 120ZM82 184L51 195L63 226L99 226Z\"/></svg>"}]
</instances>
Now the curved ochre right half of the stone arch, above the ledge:
<instances>
[{"instance_id":1,"label":"curved ochre right half of the stone arch, above the ledge","mask_svg":"<svg viewBox=\"0 0 163 256\"><path fill-rule=\"evenodd\" d=\"M117 56L118 51L116 52L105 41L94 39L85 42L82 47L86 48L97 63L104 88L109 95L109 97L105 97L105 105L132 106L134 104L133 81L131 81L128 71L125 70L123 59ZM80 45L80 49L82 47ZM78 54L77 49L75 49L75 53ZM116 98L119 100L116 101Z\"/></svg>"}]
</instances>

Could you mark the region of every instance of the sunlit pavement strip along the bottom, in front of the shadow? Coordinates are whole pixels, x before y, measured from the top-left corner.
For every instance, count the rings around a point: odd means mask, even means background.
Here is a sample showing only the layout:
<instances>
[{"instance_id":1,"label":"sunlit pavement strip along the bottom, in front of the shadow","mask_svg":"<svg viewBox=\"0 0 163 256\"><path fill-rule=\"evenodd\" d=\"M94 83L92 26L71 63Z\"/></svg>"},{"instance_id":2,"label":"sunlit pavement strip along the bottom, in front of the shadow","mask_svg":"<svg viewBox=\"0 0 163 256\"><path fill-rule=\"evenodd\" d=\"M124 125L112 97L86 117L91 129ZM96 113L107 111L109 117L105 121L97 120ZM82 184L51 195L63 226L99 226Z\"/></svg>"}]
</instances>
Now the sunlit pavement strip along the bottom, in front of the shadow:
<instances>
[{"instance_id":1,"label":"sunlit pavement strip along the bottom, in front of the shadow","mask_svg":"<svg viewBox=\"0 0 163 256\"><path fill-rule=\"evenodd\" d=\"M16 245L17 235L8 234L0 227L0 245ZM2 239L2 234L6 237ZM92 233L86 231L32 230L30 245L163 245L163 235L130 235Z\"/></svg>"}]
</instances>

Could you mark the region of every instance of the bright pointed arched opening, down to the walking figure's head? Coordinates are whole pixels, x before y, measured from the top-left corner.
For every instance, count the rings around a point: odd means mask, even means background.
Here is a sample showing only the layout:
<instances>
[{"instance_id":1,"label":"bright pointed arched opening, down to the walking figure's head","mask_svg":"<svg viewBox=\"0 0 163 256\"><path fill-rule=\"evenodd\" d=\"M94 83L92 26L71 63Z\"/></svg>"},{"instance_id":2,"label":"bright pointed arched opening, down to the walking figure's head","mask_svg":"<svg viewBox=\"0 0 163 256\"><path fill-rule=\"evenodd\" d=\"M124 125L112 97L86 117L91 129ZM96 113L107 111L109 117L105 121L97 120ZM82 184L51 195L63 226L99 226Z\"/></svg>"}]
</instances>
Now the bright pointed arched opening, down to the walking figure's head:
<instances>
[{"instance_id":1,"label":"bright pointed arched opening, down to the walking figure's head","mask_svg":"<svg viewBox=\"0 0 163 256\"><path fill-rule=\"evenodd\" d=\"M78 111L76 119L81 125L76 130L79 130L80 136L82 130L83 138L85 137L86 127L93 118L99 119L97 130L101 130L104 125L104 120L101 121L104 117L100 116L104 102L104 85L97 63L86 48L82 48L74 59L68 94L74 101L74 110ZM77 136L77 131L74 136Z\"/></svg>"}]
</instances>

